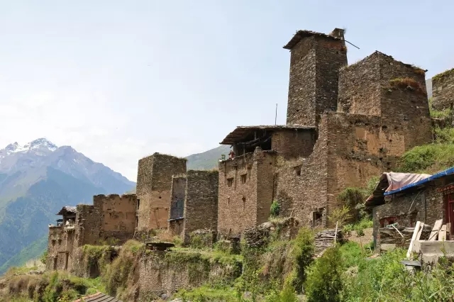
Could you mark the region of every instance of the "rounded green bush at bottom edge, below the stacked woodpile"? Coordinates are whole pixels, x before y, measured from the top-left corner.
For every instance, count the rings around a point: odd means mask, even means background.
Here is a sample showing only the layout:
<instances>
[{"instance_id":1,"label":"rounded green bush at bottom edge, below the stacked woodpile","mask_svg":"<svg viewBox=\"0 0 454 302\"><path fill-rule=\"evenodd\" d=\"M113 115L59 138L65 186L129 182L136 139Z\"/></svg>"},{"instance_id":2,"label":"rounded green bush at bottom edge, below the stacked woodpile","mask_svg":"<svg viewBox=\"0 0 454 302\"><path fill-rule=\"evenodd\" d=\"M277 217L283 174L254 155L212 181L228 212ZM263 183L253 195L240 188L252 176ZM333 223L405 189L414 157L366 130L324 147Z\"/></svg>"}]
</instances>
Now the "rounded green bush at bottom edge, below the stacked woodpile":
<instances>
[{"instance_id":1,"label":"rounded green bush at bottom edge, below the stacked woodpile","mask_svg":"<svg viewBox=\"0 0 454 302\"><path fill-rule=\"evenodd\" d=\"M338 246L329 247L311 265L305 286L308 302L341 301L342 255Z\"/></svg>"}]
</instances>

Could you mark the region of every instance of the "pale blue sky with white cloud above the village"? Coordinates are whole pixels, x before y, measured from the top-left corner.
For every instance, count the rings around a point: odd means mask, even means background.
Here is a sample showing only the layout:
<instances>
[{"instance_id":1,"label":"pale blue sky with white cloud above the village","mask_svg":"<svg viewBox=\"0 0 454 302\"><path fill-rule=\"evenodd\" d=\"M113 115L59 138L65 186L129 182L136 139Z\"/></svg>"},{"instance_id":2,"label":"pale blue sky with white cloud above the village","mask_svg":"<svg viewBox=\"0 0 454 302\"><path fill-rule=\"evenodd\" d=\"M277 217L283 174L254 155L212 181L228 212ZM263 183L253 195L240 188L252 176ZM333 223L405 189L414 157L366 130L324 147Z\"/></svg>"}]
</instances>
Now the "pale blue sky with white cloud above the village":
<instances>
[{"instance_id":1,"label":"pale blue sky with white cloud above the village","mask_svg":"<svg viewBox=\"0 0 454 302\"><path fill-rule=\"evenodd\" d=\"M284 124L296 30L454 67L454 1L0 0L0 148L48 138L132 181L154 152L204 152L237 125Z\"/></svg>"}]
</instances>

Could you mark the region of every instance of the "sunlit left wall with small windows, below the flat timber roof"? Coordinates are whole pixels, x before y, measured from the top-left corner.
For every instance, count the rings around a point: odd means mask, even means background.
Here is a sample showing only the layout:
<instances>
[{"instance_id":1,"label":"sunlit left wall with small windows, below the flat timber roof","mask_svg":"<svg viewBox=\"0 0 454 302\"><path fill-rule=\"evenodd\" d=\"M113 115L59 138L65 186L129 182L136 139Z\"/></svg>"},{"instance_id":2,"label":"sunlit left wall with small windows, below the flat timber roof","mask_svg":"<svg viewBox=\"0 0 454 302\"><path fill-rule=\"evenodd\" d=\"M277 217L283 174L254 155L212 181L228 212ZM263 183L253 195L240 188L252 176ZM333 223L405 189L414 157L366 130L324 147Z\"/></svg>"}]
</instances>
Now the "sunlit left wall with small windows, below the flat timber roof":
<instances>
[{"instance_id":1,"label":"sunlit left wall with small windows, below the flat timber roof","mask_svg":"<svg viewBox=\"0 0 454 302\"><path fill-rule=\"evenodd\" d=\"M245 175L245 183L242 175ZM219 162L219 234L239 234L256 224L257 177L257 163L252 153Z\"/></svg>"}]
</instances>

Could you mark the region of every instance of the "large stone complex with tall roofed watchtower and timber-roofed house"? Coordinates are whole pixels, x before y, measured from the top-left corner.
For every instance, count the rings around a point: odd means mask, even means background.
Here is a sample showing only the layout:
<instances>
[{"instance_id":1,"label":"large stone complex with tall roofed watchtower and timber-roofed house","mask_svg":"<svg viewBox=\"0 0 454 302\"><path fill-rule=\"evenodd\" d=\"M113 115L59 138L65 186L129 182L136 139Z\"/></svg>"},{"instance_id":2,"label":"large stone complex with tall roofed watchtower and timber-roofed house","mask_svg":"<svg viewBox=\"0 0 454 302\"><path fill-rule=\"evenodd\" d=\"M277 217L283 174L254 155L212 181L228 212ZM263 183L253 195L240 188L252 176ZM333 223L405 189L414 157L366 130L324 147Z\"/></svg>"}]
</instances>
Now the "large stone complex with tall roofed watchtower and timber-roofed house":
<instances>
[{"instance_id":1,"label":"large stone complex with tall roofed watchtower and timber-roofed house","mask_svg":"<svg viewBox=\"0 0 454 302\"><path fill-rule=\"evenodd\" d=\"M347 66L343 30L299 30L289 49L287 125L238 127L221 142L218 232L238 234L270 216L329 225L336 196L431 142L425 71L382 52Z\"/></svg>"}]
</instances>

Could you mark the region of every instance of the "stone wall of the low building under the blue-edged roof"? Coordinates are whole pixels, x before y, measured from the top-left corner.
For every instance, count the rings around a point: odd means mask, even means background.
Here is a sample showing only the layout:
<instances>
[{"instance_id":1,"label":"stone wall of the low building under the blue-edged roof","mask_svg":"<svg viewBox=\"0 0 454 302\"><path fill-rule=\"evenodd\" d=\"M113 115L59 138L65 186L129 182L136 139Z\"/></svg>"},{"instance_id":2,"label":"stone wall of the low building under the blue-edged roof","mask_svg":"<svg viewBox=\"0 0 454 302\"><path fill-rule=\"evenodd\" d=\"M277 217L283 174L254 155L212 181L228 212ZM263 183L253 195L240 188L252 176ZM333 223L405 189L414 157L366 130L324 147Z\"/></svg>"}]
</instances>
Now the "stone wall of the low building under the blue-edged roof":
<instances>
[{"instance_id":1,"label":"stone wall of the low building under the blue-edged roof","mask_svg":"<svg viewBox=\"0 0 454 302\"><path fill-rule=\"evenodd\" d=\"M441 181L429 184L419 190L407 190L400 196L394 196L391 201L382 206L373 208L374 240L380 245L379 228L392 223L399 223L402 227L413 228L417 221L427 223L433 227L438 219L445 223L445 204L443 194L438 192Z\"/></svg>"}]
</instances>

